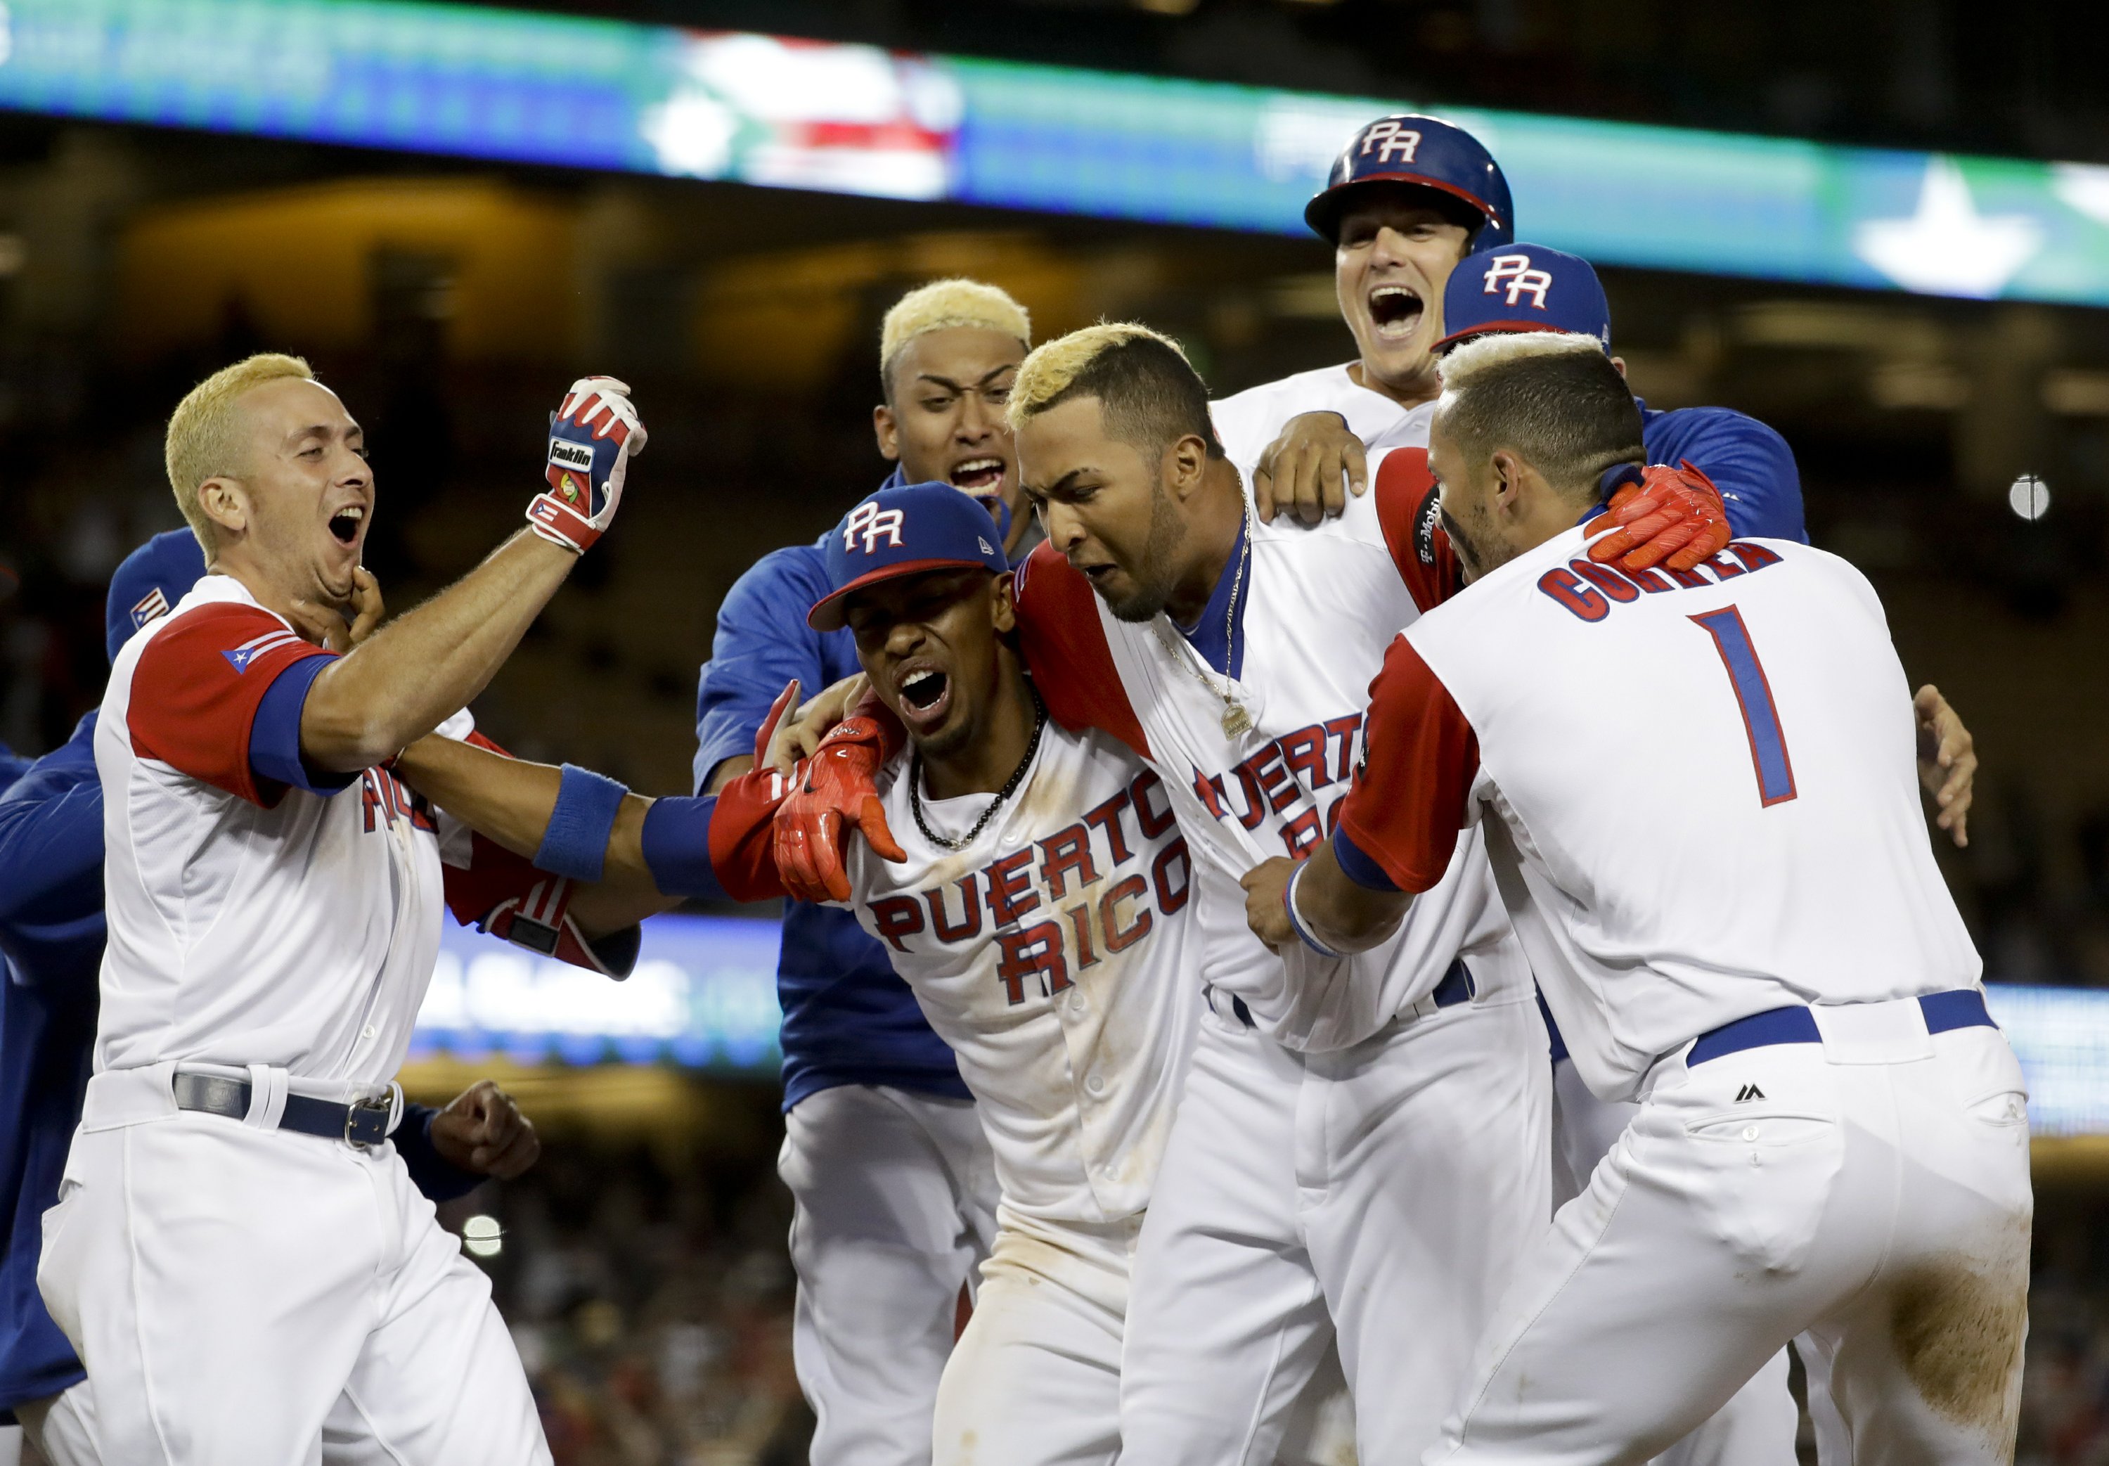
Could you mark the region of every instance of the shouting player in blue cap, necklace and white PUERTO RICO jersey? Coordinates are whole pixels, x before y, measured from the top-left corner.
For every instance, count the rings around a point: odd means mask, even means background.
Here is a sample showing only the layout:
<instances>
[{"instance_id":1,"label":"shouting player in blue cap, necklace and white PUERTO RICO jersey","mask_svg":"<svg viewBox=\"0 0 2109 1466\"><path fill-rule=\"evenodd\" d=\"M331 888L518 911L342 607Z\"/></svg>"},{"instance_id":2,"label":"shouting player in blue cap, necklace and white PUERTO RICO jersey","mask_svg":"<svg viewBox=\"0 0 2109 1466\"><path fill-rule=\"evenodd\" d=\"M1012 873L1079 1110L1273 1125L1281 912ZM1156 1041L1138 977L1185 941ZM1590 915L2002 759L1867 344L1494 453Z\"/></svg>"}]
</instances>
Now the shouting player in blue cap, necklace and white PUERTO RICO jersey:
<instances>
[{"instance_id":1,"label":"shouting player in blue cap, necklace and white PUERTO RICO jersey","mask_svg":"<svg viewBox=\"0 0 2109 1466\"><path fill-rule=\"evenodd\" d=\"M1111 1462L1130 1257L1200 1006L1194 875L1158 776L1107 734L1048 721L995 538L945 483L873 494L831 534L831 589L810 622L854 635L907 747L865 814L875 842L797 873L886 945L960 1055L995 1154L1002 1226L936 1392L934 1460ZM603 890L628 884L639 913L711 886L785 894L778 806L846 740L877 732L867 717L835 726L791 783L763 761L715 799L631 795ZM567 818L559 770L443 738L401 768L515 850Z\"/></svg>"}]
</instances>

